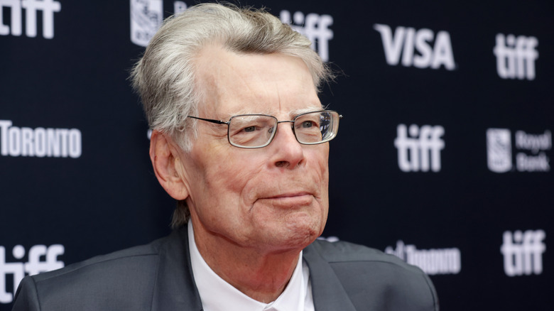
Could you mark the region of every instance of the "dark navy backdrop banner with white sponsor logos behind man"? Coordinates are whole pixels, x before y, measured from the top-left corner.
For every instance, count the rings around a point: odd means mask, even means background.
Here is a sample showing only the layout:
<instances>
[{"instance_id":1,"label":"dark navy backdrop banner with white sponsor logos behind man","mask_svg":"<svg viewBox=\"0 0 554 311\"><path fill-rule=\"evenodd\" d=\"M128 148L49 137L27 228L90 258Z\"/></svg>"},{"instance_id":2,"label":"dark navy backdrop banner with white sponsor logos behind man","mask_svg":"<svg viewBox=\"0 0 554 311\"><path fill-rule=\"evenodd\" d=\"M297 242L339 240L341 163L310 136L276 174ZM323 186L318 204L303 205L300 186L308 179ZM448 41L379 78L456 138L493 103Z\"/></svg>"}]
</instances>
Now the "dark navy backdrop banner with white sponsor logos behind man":
<instances>
[{"instance_id":1,"label":"dark navy backdrop banner with white sponsor logos behind man","mask_svg":"<svg viewBox=\"0 0 554 311\"><path fill-rule=\"evenodd\" d=\"M128 77L195 3L0 0L0 310L24 275L169 233ZM241 5L337 72L326 239L420 266L442 310L551 310L551 1Z\"/></svg>"}]
</instances>

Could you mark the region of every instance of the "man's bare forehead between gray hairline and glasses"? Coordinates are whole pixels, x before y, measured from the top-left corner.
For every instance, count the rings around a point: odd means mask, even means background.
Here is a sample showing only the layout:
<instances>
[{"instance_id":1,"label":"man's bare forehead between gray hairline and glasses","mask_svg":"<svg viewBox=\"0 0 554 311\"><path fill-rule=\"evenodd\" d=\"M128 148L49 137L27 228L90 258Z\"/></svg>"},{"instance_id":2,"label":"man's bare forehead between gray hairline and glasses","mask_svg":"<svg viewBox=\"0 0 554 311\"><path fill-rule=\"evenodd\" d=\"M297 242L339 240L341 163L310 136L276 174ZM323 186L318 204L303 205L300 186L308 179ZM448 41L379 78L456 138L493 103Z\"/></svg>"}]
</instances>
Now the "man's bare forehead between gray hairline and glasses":
<instances>
[{"instance_id":1,"label":"man's bare forehead between gray hairline and glasses","mask_svg":"<svg viewBox=\"0 0 554 311\"><path fill-rule=\"evenodd\" d=\"M200 114L295 115L321 109L312 75L303 60L282 54L237 54L217 46L197 59Z\"/></svg>"}]
</instances>

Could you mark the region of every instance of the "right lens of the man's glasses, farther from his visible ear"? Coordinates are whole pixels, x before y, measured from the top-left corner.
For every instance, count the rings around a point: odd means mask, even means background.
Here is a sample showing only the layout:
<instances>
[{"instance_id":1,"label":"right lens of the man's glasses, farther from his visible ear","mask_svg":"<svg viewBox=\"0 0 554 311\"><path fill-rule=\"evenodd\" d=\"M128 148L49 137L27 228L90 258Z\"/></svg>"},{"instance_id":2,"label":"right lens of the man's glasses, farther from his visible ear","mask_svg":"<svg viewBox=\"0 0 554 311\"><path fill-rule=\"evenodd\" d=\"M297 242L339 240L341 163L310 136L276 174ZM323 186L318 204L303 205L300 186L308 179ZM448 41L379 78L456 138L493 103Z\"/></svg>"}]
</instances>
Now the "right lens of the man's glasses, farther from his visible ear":
<instances>
[{"instance_id":1,"label":"right lens of the man's glasses, farther from his visible ear","mask_svg":"<svg viewBox=\"0 0 554 311\"><path fill-rule=\"evenodd\" d=\"M339 114L336 111L316 111L300 114L294 120L294 132L300 143L325 143L337 136Z\"/></svg>"}]
</instances>

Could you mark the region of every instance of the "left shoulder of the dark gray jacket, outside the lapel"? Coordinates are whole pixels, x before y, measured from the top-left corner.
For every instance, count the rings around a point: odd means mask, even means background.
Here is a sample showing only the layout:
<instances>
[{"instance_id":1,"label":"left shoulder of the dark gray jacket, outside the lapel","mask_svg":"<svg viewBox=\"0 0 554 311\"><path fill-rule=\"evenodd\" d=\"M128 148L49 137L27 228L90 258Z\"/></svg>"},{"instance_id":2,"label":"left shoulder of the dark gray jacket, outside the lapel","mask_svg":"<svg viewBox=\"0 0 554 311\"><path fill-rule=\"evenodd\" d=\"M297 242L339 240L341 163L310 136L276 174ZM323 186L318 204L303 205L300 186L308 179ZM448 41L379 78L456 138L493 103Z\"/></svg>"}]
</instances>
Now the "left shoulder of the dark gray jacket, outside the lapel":
<instances>
[{"instance_id":1,"label":"left shoulder of the dark gray jacket, outside the lapel","mask_svg":"<svg viewBox=\"0 0 554 311\"><path fill-rule=\"evenodd\" d=\"M149 310L167 239L27 276L13 310ZM28 308L30 302L38 308ZM18 308L23 303L27 306Z\"/></svg>"}]
</instances>

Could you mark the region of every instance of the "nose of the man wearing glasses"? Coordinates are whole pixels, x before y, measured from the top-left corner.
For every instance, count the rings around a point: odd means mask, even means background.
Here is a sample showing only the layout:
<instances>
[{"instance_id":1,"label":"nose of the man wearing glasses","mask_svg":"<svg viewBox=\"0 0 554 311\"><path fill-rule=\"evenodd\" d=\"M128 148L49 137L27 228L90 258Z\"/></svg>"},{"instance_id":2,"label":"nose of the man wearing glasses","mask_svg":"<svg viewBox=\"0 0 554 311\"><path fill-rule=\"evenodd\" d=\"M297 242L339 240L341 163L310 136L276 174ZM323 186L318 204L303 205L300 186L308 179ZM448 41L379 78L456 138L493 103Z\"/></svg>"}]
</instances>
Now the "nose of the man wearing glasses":
<instances>
[{"instance_id":1,"label":"nose of the man wearing glasses","mask_svg":"<svg viewBox=\"0 0 554 311\"><path fill-rule=\"evenodd\" d=\"M296 140L292 124L283 122L277 126L277 133L269 145L273 151L271 163L278 168L290 169L304 163L304 148Z\"/></svg>"}]
</instances>

